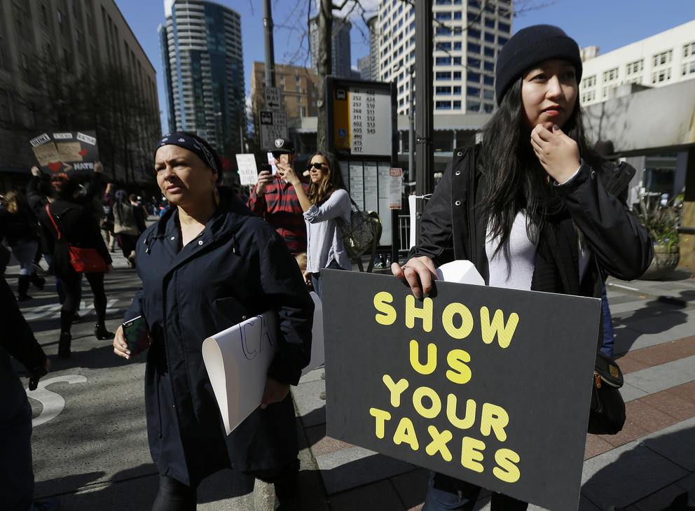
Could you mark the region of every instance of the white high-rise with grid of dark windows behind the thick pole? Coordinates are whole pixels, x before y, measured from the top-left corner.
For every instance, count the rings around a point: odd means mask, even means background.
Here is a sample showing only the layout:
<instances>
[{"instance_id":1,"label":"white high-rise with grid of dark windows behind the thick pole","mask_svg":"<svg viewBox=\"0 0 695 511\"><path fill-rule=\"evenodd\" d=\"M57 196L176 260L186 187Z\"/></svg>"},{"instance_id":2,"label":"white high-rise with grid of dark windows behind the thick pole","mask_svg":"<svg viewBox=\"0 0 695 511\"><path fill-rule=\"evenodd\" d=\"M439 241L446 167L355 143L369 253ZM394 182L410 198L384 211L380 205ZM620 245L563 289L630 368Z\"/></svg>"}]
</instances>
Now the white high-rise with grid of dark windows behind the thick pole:
<instances>
[{"instance_id":1,"label":"white high-rise with grid of dark windows behind the thick pole","mask_svg":"<svg viewBox=\"0 0 695 511\"><path fill-rule=\"evenodd\" d=\"M441 113L489 113L495 108L495 61L511 37L511 0L434 0L434 108ZM395 81L398 113L410 110L415 64L415 9L381 0L379 79Z\"/></svg>"}]
</instances>

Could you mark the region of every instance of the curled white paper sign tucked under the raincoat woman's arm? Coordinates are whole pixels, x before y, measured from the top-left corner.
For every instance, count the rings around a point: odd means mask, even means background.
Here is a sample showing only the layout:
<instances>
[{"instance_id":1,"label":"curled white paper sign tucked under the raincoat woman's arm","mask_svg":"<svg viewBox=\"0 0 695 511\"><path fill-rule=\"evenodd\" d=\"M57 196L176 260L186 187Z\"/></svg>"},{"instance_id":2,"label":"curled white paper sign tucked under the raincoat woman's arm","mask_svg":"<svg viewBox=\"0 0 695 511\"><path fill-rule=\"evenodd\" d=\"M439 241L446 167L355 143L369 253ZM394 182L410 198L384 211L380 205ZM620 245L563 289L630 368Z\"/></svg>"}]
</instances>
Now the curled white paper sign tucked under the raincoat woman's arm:
<instances>
[{"instance_id":1,"label":"curled white paper sign tucked under the raincoat woman's arm","mask_svg":"<svg viewBox=\"0 0 695 511\"><path fill-rule=\"evenodd\" d=\"M311 360L302 374L324 363L321 300L314 300ZM202 342L202 359L229 435L261 404L268 367L275 355L277 318L266 311Z\"/></svg>"}]
</instances>

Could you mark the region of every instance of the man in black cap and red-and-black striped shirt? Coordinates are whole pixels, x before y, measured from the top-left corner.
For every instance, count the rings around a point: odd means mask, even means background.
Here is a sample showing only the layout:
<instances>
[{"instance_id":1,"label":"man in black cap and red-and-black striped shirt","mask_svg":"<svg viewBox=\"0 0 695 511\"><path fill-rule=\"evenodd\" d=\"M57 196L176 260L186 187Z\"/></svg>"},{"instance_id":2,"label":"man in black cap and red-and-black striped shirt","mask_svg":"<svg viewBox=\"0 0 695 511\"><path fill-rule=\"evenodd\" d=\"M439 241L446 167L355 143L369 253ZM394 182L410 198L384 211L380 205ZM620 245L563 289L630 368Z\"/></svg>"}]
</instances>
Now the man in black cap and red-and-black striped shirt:
<instances>
[{"instance_id":1,"label":"man in black cap and red-and-black striped shirt","mask_svg":"<svg viewBox=\"0 0 695 511\"><path fill-rule=\"evenodd\" d=\"M275 148L270 152L279 168L292 167L297 158L294 144L287 139L276 139ZM308 191L308 185L303 186ZM306 252L303 210L291 184L268 170L262 170L247 205L256 215L273 225L291 253Z\"/></svg>"}]
</instances>

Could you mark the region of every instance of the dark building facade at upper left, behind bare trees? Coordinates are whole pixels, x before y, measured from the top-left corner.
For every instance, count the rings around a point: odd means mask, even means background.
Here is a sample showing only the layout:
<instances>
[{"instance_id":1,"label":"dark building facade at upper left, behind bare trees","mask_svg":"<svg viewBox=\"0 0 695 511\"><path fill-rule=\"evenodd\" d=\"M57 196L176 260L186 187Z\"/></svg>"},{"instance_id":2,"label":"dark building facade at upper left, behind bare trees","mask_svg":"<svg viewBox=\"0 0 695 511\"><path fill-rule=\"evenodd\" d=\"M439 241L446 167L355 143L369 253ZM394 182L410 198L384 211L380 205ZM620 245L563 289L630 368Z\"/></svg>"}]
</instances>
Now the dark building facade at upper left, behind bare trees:
<instances>
[{"instance_id":1,"label":"dark building facade at upper left, behind bare trees","mask_svg":"<svg viewBox=\"0 0 695 511\"><path fill-rule=\"evenodd\" d=\"M29 176L29 139L46 130L95 130L106 174L141 181L158 111L154 67L113 0L0 2L4 185Z\"/></svg>"}]
</instances>

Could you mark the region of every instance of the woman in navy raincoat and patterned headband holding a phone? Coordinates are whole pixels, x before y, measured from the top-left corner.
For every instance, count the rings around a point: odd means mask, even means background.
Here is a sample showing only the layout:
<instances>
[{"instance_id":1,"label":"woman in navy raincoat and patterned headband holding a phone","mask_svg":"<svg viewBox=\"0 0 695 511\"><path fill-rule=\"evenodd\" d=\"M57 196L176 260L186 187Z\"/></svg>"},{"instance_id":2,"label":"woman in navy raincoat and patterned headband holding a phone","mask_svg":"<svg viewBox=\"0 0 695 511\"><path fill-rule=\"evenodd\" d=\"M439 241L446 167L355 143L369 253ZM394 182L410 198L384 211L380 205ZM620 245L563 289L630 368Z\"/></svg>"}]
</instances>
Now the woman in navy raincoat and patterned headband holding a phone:
<instances>
[{"instance_id":1,"label":"woman in navy raincoat and patterned headband holding a phone","mask_svg":"<svg viewBox=\"0 0 695 511\"><path fill-rule=\"evenodd\" d=\"M144 316L151 340L145 405L160 473L153 509L194 510L198 484L222 468L274 482L282 502L298 470L289 386L309 362L313 302L282 237L217 188L221 163L207 142L165 136L155 169L172 208L137 242L142 289L125 314ZM277 313L277 351L262 404L226 435L202 342L268 309ZM113 350L131 356L122 327Z\"/></svg>"}]
</instances>

